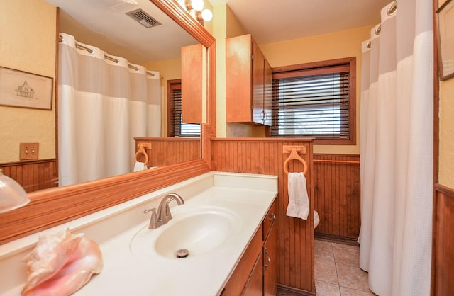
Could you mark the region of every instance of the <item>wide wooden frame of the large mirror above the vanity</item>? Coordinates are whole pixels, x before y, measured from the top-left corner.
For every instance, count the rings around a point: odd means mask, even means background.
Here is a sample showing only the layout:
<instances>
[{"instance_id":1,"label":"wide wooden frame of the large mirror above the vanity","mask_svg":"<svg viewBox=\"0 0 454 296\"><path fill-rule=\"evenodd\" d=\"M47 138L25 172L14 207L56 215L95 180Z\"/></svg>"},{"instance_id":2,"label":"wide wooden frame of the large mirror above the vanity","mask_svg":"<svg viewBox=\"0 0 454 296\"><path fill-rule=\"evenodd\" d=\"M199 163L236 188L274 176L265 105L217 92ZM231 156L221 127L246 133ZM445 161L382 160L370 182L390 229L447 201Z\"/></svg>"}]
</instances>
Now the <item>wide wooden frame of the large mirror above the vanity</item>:
<instances>
[{"instance_id":1,"label":"wide wooden frame of the large mirror above the vanity","mask_svg":"<svg viewBox=\"0 0 454 296\"><path fill-rule=\"evenodd\" d=\"M172 0L150 0L207 48L206 123L202 124L202 159L29 193L31 203L0 214L0 244L75 220L154 190L210 171L209 138L214 135L216 40L181 6ZM58 42L58 32L55 44Z\"/></svg>"}]
</instances>

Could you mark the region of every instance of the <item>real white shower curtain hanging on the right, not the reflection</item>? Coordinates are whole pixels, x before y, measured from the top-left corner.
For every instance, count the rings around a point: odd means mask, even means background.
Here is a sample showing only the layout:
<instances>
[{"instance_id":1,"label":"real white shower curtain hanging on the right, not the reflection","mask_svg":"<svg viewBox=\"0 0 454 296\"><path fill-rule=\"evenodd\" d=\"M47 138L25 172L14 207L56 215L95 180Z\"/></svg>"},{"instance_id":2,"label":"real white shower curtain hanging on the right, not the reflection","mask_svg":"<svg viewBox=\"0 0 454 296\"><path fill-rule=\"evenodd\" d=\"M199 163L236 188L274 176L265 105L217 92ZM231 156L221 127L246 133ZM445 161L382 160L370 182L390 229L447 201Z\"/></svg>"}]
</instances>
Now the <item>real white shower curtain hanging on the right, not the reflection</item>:
<instances>
[{"instance_id":1,"label":"real white shower curtain hanging on the right, not the reflection","mask_svg":"<svg viewBox=\"0 0 454 296\"><path fill-rule=\"evenodd\" d=\"M377 295L430 295L432 2L391 5L362 44L360 267Z\"/></svg>"}]
</instances>

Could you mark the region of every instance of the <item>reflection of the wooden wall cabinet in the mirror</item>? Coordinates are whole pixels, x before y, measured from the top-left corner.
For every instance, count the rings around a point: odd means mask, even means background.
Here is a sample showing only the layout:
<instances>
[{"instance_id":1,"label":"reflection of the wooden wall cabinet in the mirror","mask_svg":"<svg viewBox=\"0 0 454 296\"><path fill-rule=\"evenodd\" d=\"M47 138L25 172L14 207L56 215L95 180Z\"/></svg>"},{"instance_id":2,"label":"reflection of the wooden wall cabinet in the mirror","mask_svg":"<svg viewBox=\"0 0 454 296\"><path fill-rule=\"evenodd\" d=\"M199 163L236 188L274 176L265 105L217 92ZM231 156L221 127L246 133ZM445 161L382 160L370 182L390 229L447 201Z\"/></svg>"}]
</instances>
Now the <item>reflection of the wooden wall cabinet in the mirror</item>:
<instances>
[{"instance_id":1,"label":"reflection of the wooden wall cabinet in the mirror","mask_svg":"<svg viewBox=\"0 0 454 296\"><path fill-rule=\"evenodd\" d=\"M202 123L206 93L206 49L201 44L182 47L183 123Z\"/></svg>"}]
</instances>

